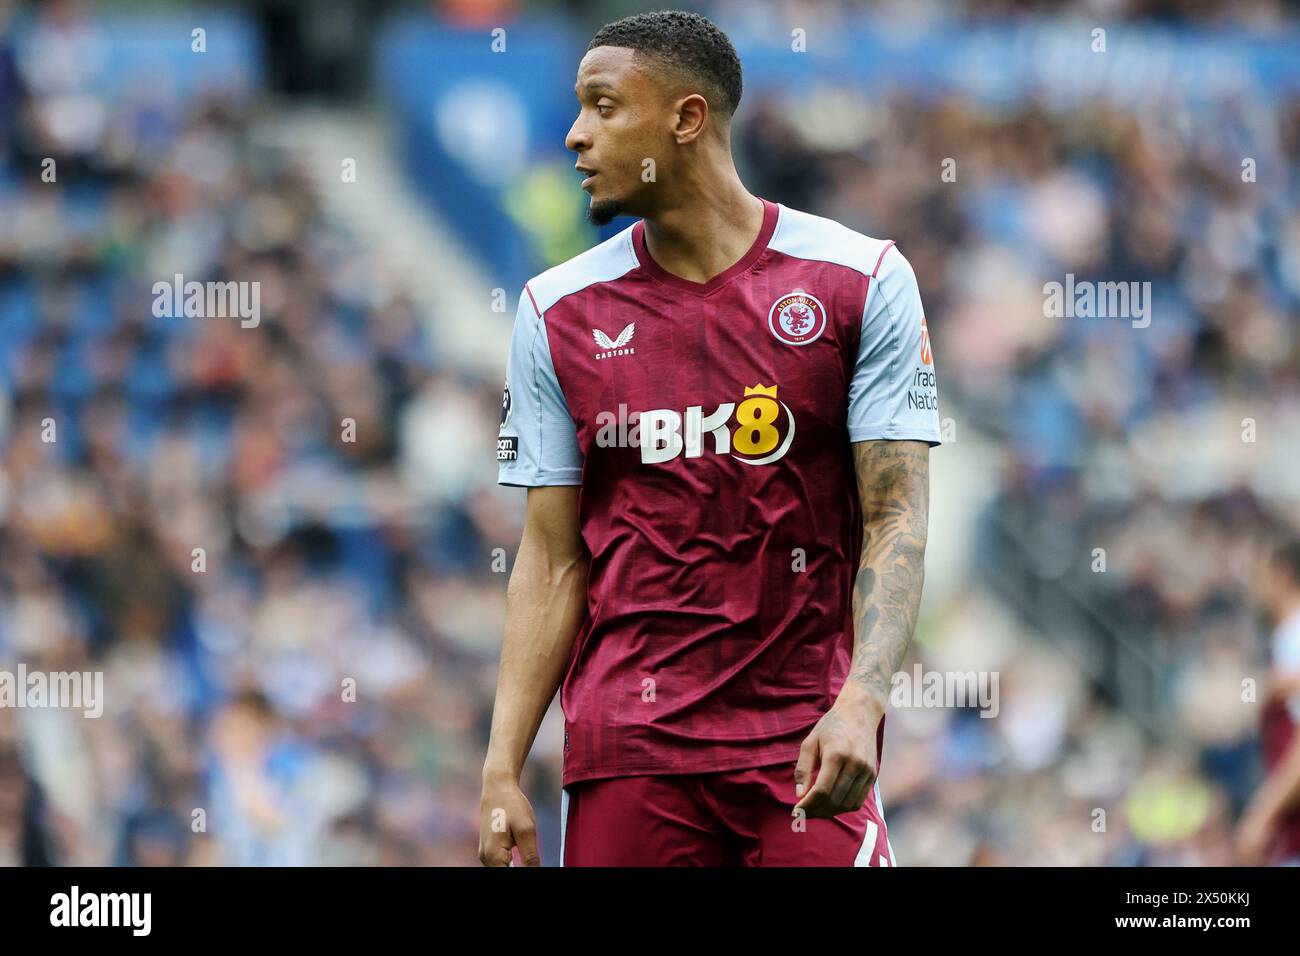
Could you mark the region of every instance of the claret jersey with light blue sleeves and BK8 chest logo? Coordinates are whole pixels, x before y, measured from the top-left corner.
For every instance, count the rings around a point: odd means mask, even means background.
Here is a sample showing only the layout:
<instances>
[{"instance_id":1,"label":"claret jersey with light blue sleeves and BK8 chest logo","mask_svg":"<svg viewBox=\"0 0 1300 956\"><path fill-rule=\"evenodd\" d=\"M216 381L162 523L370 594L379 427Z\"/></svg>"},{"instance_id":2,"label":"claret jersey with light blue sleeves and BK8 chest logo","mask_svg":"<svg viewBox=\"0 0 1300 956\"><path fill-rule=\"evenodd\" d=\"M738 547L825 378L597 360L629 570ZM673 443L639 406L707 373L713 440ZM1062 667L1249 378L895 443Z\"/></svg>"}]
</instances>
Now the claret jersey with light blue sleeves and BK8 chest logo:
<instances>
[{"instance_id":1,"label":"claret jersey with light blue sleeves and BK8 chest logo","mask_svg":"<svg viewBox=\"0 0 1300 956\"><path fill-rule=\"evenodd\" d=\"M581 485L590 551L566 784L793 761L853 649L850 445L939 444L907 260L764 207L708 282L662 269L637 222L520 295L499 481Z\"/></svg>"}]
</instances>

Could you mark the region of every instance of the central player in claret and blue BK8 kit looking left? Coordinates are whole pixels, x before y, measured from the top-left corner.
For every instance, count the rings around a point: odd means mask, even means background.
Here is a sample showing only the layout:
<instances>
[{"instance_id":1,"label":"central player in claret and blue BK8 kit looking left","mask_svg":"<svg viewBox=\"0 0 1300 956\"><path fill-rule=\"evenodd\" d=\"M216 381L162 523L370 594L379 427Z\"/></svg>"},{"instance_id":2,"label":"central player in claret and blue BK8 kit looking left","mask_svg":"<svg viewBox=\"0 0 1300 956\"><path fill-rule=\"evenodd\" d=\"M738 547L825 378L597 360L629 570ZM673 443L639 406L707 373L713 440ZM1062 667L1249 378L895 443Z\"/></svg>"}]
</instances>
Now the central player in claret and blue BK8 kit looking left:
<instances>
[{"instance_id":1,"label":"central player in claret and blue BK8 kit looking left","mask_svg":"<svg viewBox=\"0 0 1300 956\"><path fill-rule=\"evenodd\" d=\"M915 276L746 191L706 18L602 27L576 92L589 217L638 221L519 300L480 857L540 862L520 773L560 688L564 865L893 866L876 774L939 444Z\"/></svg>"}]
</instances>

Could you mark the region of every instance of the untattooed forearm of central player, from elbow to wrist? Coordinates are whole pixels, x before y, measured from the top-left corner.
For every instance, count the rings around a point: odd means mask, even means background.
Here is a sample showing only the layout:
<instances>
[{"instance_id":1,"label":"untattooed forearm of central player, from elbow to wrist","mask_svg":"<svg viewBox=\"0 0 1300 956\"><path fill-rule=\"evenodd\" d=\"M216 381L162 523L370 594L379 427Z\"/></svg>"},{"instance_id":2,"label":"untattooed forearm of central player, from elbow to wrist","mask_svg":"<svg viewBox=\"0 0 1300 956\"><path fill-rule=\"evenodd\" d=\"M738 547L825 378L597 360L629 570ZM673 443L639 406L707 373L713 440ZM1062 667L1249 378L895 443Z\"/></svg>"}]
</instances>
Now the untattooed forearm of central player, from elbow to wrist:
<instances>
[{"instance_id":1,"label":"untattooed forearm of central player, from elbow to wrist","mask_svg":"<svg viewBox=\"0 0 1300 956\"><path fill-rule=\"evenodd\" d=\"M517 779L564 678L586 609L585 555L556 558L525 537L506 593L506 636L484 775Z\"/></svg>"}]
</instances>

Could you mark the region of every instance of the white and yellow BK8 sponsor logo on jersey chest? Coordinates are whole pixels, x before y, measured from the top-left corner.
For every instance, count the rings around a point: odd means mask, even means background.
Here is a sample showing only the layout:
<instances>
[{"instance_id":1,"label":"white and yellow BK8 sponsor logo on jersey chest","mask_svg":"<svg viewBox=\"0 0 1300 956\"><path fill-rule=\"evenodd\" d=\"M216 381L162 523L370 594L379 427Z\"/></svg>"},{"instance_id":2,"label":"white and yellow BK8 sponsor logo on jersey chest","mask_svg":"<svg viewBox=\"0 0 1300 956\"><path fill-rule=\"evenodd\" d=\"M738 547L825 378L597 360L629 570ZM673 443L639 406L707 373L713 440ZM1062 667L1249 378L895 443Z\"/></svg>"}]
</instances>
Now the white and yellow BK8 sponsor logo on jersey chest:
<instances>
[{"instance_id":1,"label":"white and yellow BK8 sponsor logo on jersey chest","mask_svg":"<svg viewBox=\"0 0 1300 956\"><path fill-rule=\"evenodd\" d=\"M640 447L644 464L677 457L699 458L705 451L731 455L745 464L771 464L785 457L794 441L794 412L776 397L776 385L745 389L744 401L723 402L707 415L705 406L684 411L650 408L642 412L601 412L595 444L601 447ZM705 436L710 436L706 441Z\"/></svg>"}]
</instances>

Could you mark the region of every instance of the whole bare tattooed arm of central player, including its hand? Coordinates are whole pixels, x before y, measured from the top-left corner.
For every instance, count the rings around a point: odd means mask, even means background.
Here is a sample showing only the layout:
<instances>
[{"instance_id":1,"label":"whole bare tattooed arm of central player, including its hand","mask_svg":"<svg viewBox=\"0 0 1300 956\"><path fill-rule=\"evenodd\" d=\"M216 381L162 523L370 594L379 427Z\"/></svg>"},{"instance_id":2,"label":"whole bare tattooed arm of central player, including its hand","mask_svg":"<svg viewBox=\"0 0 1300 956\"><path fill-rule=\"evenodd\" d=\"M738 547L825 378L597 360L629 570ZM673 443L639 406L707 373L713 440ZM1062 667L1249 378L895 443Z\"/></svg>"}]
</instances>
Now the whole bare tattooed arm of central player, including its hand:
<instances>
[{"instance_id":1,"label":"whole bare tattooed arm of central player, including its hand","mask_svg":"<svg viewBox=\"0 0 1300 956\"><path fill-rule=\"evenodd\" d=\"M797 804L809 817L857 810L876 779L876 728L893 675L916 627L926 578L930 445L853 445L862 502L862 558L853 589L853 666L840 696L803 741L794 770ZM816 782L807 782L814 766Z\"/></svg>"}]
</instances>

